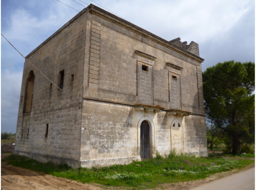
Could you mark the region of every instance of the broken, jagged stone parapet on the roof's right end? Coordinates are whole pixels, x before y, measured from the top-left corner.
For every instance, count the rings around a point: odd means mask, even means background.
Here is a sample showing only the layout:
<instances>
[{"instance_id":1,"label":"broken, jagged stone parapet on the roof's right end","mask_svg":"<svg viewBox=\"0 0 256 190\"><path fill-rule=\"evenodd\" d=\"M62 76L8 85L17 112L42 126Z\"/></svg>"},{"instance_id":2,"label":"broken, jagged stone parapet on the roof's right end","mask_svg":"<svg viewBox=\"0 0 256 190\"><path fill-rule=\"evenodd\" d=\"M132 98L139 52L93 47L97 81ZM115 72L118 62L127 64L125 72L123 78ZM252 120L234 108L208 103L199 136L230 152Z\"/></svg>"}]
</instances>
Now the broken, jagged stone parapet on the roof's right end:
<instances>
[{"instance_id":1,"label":"broken, jagged stone parapet on the roof's right end","mask_svg":"<svg viewBox=\"0 0 256 190\"><path fill-rule=\"evenodd\" d=\"M194 41L191 41L189 45L187 45L186 41L181 42L180 38L173 39L169 42L181 47L182 49L184 49L192 54L199 56L199 46L198 46L198 43L196 43Z\"/></svg>"}]
</instances>

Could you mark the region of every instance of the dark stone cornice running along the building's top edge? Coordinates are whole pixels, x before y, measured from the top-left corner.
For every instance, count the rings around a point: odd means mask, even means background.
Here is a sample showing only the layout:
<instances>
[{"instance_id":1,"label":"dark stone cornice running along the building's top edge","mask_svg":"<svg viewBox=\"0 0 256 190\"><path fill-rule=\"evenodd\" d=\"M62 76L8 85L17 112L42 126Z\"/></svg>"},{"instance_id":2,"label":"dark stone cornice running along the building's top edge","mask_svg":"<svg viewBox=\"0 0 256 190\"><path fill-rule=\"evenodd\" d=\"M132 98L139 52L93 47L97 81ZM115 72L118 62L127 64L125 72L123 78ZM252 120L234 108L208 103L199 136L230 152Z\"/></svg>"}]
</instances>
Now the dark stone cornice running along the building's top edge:
<instances>
[{"instance_id":1,"label":"dark stone cornice running along the building's top edge","mask_svg":"<svg viewBox=\"0 0 256 190\"><path fill-rule=\"evenodd\" d=\"M47 38L43 43L41 43L39 46L37 46L31 53L29 53L26 58L28 58L30 55L32 55L35 51L37 51L40 47L42 47L44 44L46 44L50 39L52 39L55 35L57 35L60 31L62 31L64 28L66 28L68 25L70 25L72 22L74 22L78 17L80 17L83 13L85 13L86 11L90 11L90 12L97 12L98 14L101 14L101 15L104 15L105 17L108 17L109 19L111 20L114 20L116 22L119 22L119 23L122 23L130 28L132 28L133 30L136 30L136 31L139 31L141 33L144 33L146 35L148 35L149 37L157 40L157 41L160 41L162 42L163 44L165 44L165 46L169 46L171 47L172 49L175 49L176 51L180 52L180 53L183 53L183 54L186 54L196 60L198 60L199 62L203 62L204 59L195 55L195 54L192 54L184 49L182 49L181 47L175 45L175 44L172 44L170 41L167 41L143 28L140 28L120 17L117 17L116 15L110 13L110 12L107 12L93 4L90 4L89 6L87 6L86 8L84 8L83 10L81 10L77 15L75 15L75 17L73 17L70 21L68 21L65 25L63 25L60 29L58 29L54 34L52 34L49 38Z\"/></svg>"}]
</instances>

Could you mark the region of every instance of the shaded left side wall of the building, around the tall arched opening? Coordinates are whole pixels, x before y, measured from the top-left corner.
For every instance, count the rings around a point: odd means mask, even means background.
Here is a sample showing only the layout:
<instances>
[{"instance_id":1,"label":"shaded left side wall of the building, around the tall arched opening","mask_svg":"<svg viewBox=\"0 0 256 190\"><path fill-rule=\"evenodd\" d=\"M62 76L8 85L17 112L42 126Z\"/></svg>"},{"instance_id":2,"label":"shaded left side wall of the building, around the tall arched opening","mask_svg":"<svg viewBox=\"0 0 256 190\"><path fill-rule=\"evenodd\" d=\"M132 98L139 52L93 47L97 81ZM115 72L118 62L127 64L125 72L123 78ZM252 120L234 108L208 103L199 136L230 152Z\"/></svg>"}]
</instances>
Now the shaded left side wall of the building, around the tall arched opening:
<instances>
[{"instance_id":1,"label":"shaded left side wall of the building, around the tall arched opening","mask_svg":"<svg viewBox=\"0 0 256 190\"><path fill-rule=\"evenodd\" d=\"M77 15L76 22L67 23L27 56L52 82L25 62L16 154L40 161L67 159L73 165L79 160L85 21L85 14ZM31 70L35 76L32 106L31 112L24 113L26 81ZM60 87L61 80L61 88L69 96L54 86L53 83Z\"/></svg>"}]
</instances>

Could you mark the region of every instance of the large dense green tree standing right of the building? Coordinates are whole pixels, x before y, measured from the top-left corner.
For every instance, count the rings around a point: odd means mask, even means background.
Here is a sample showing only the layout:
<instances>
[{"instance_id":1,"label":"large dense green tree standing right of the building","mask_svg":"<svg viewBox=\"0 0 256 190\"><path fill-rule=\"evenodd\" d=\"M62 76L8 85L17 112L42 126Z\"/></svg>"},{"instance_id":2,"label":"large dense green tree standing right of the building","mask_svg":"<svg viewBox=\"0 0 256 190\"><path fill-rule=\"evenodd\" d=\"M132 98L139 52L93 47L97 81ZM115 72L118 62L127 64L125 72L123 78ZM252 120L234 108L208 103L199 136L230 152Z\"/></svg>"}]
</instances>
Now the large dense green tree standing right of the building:
<instances>
[{"instance_id":1,"label":"large dense green tree standing right of the building","mask_svg":"<svg viewBox=\"0 0 256 190\"><path fill-rule=\"evenodd\" d=\"M203 89L206 117L231 137L232 154L238 154L240 140L254 141L255 64L227 61L209 67Z\"/></svg>"}]
</instances>

